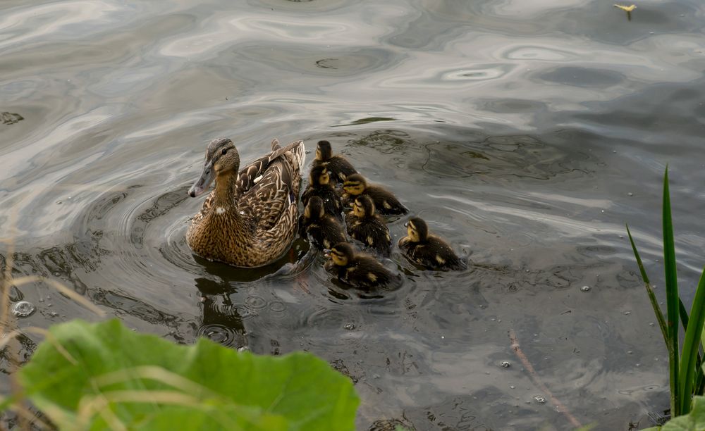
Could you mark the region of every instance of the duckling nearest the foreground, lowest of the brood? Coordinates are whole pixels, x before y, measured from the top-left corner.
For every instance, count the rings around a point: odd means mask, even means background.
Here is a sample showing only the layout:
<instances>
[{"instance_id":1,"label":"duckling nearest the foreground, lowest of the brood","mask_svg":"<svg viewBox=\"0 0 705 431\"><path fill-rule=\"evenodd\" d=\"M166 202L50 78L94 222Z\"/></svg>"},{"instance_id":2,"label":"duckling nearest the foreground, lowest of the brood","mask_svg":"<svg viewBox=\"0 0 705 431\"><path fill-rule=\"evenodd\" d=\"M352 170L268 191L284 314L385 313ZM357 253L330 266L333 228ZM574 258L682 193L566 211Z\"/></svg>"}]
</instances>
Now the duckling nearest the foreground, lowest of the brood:
<instances>
[{"instance_id":1,"label":"duckling nearest the foreground, lowest of the brood","mask_svg":"<svg viewBox=\"0 0 705 431\"><path fill-rule=\"evenodd\" d=\"M388 285L394 280L398 280L398 276L384 268L372 256L355 253L353 245L348 242L341 242L333 246L329 257L330 260L326 262L324 268L329 273L336 275L338 280L358 289Z\"/></svg>"}]
</instances>

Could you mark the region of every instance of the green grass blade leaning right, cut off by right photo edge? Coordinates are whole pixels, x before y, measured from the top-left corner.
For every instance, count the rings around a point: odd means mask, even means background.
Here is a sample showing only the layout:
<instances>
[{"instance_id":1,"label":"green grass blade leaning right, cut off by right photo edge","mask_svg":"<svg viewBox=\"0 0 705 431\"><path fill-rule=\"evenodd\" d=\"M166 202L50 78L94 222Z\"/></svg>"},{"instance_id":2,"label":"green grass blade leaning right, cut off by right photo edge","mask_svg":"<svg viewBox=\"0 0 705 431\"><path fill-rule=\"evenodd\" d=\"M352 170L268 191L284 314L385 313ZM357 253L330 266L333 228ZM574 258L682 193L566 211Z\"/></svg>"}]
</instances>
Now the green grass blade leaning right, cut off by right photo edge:
<instances>
[{"instance_id":1,"label":"green grass blade leaning right, cut off by right photo edge","mask_svg":"<svg viewBox=\"0 0 705 431\"><path fill-rule=\"evenodd\" d=\"M685 331L685 340L683 341L683 356L680 364L680 399L682 414L686 414L690 411L693 383L699 368L697 356L700 349L700 337L703 332L703 325L705 325L705 270L703 270L700 276L700 282L695 290L693 306L690 309L690 324Z\"/></svg>"}]
</instances>

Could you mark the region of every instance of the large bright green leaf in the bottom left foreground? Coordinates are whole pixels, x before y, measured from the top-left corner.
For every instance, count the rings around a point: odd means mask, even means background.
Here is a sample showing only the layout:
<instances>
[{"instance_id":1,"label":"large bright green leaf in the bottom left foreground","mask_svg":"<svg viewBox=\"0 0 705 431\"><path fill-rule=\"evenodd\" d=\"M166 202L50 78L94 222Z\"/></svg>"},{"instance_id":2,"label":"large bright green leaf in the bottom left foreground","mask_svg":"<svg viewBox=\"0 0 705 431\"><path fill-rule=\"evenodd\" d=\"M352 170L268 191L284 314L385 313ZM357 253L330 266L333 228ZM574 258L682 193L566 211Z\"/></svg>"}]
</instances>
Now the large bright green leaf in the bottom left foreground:
<instances>
[{"instance_id":1,"label":"large bright green leaf in the bottom left foreground","mask_svg":"<svg viewBox=\"0 0 705 431\"><path fill-rule=\"evenodd\" d=\"M55 340L39 346L19 377L62 429L354 428L353 385L311 354L257 356L206 339L182 346L118 320L73 320L50 332Z\"/></svg>"}]
</instances>

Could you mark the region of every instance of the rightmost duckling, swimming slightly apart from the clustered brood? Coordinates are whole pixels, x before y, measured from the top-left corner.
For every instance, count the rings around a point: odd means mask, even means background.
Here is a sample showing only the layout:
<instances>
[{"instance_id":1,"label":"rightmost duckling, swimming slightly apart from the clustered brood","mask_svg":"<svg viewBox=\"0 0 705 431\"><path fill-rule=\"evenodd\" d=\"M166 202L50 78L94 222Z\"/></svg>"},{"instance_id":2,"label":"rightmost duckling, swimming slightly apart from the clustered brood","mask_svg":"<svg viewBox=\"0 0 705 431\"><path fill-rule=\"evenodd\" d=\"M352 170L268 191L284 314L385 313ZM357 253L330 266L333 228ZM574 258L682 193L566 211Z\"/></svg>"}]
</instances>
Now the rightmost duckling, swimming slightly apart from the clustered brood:
<instances>
[{"instance_id":1,"label":"rightmost duckling, swimming slightly apart from the clustered brood","mask_svg":"<svg viewBox=\"0 0 705 431\"><path fill-rule=\"evenodd\" d=\"M412 263L439 270L467 268L447 242L436 235L429 235L429 227L424 220L412 217L404 225L407 236L399 240L399 249Z\"/></svg>"}]
</instances>

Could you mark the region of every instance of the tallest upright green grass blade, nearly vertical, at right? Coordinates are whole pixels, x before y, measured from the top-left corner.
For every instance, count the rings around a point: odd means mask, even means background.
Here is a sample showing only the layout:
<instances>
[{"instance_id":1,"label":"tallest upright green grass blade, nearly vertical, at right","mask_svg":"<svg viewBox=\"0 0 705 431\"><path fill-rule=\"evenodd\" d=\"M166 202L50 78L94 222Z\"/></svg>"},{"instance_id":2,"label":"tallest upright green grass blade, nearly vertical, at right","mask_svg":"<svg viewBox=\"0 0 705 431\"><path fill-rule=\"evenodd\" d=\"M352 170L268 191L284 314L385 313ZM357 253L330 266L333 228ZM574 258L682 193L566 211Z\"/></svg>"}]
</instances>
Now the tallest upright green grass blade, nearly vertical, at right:
<instances>
[{"instance_id":1,"label":"tallest upright green grass blade, nearly vertical, at right","mask_svg":"<svg viewBox=\"0 0 705 431\"><path fill-rule=\"evenodd\" d=\"M666 275L666 318L668 325L668 341L672 346L668 350L668 363L670 368L670 396L671 413L680 416L682 402L680 399L680 376L678 358L678 277L675 267L675 243L673 241L673 220L670 215L670 192L668 190L668 166L663 175L663 264ZM688 406L689 406L688 402Z\"/></svg>"}]
</instances>

